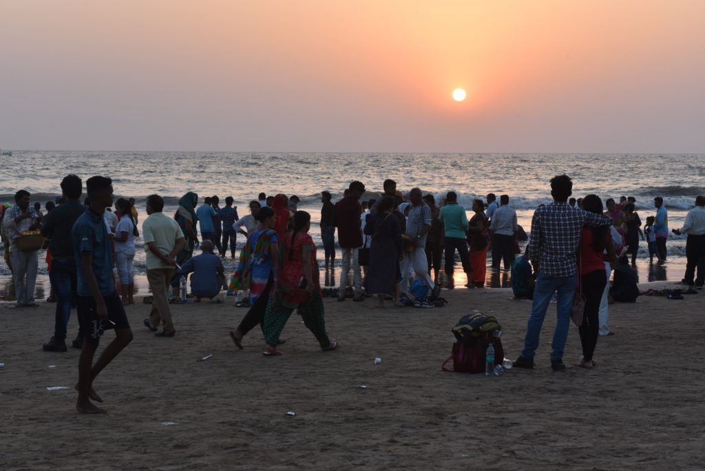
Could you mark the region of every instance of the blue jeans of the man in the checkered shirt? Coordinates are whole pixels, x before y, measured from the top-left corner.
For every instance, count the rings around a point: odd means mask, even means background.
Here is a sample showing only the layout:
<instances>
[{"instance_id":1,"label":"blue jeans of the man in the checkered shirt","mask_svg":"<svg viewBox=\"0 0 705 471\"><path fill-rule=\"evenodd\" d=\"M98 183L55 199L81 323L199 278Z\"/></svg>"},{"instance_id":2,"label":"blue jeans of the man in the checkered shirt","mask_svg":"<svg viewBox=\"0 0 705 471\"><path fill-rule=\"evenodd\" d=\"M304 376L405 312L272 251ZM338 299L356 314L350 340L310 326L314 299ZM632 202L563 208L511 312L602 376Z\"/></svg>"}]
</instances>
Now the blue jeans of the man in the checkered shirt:
<instances>
[{"instance_id":1,"label":"blue jeans of the man in the checkered shirt","mask_svg":"<svg viewBox=\"0 0 705 471\"><path fill-rule=\"evenodd\" d=\"M553 331L553 341L551 342L551 360L563 359L565 341L568 339L568 329L570 327L570 308L572 307L573 295L575 295L576 279L575 274L570 276L548 276L539 271L534 288L534 303L531 308L531 315L527 324L527 334L524 338L524 350L522 357L531 358L536 354L539 347L539 335L541 326L544 324L546 310L551 304L553 293L558 291L558 305L556 305L557 319L556 330Z\"/></svg>"}]
</instances>

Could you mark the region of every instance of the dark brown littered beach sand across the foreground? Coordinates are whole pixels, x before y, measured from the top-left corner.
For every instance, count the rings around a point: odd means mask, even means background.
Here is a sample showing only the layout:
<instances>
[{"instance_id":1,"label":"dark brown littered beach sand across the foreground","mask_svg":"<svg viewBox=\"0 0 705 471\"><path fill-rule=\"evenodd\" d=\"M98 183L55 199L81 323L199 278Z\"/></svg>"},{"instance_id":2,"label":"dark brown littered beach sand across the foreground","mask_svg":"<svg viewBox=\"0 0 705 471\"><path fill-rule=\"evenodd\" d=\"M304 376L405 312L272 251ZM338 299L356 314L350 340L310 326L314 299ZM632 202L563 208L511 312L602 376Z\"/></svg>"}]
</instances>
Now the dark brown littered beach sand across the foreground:
<instances>
[{"instance_id":1,"label":"dark brown littered beach sand across the foreground","mask_svg":"<svg viewBox=\"0 0 705 471\"><path fill-rule=\"evenodd\" d=\"M703 466L705 291L612 305L615 335L599 338L592 370L572 366L580 338L571 326L568 369L551 371L551 305L536 368L502 377L441 372L450 329L474 309L493 314L505 352L515 358L531 304L508 299L508 289L443 296L448 305L429 310L327 299L328 331L343 346L322 353L294 314L284 355L271 358L261 354L259 331L245 338L245 350L235 349L228 330L245 310L232 300L173 306L177 336L155 338L142 326L149 306L138 299L127 309L135 340L94 384L109 411L99 416L75 411L73 389L47 391L77 379L78 350L41 349L54 305L3 303L0 469ZM70 339L75 326L72 316Z\"/></svg>"}]
</instances>

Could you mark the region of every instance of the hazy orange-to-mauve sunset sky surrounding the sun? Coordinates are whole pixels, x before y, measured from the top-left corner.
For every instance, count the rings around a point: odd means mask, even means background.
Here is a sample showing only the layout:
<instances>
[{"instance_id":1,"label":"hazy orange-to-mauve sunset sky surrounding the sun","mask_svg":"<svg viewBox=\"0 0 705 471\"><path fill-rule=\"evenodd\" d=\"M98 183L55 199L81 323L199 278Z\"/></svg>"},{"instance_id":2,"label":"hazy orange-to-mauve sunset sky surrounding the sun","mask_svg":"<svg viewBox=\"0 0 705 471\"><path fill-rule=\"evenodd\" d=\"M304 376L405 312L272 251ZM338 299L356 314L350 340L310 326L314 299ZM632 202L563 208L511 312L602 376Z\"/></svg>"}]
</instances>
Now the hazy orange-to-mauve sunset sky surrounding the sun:
<instances>
[{"instance_id":1,"label":"hazy orange-to-mauve sunset sky surrounding the sun","mask_svg":"<svg viewBox=\"0 0 705 471\"><path fill-rule=\"evenodd\" d=\"M0 0L0 147L702 153L704 18L700 0Z\"/></svg>"}]
</instances>

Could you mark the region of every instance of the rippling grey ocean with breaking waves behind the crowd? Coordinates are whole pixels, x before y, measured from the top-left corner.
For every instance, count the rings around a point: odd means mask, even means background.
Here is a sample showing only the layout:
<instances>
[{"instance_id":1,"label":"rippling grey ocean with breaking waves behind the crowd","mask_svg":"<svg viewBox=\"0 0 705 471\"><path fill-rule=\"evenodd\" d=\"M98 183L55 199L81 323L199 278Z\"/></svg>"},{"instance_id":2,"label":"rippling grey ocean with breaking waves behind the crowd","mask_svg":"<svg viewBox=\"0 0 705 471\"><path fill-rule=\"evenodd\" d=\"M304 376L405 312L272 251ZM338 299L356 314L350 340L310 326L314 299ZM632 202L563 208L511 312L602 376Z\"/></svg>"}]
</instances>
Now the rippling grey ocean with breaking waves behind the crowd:
<instances>
[{"instance_id":1,"label":"rippling grey ocean with breaking waves behind the crowd","mask_svg":"<svg viewBox=\"0 0 705 471\"><path fill-rule=\"evenodd\" d=\"M6 171L0 174L0 202L13 202L14 193L25 189L32 202L54 200L61 194L59 183L68 173L83 181L93 175L113 179L116 200L134 197L142 221L146 218L145 199L158 193L166 201L164 212L173 214L178 199L194 191L200 197L218 195L235 199L238 214L247 214L247 204L259 192L267 195L298 195L298 209L312 214L312 236L322 257L318 228L320 192L329 190L333 201L343 195L350 181L367 187L363 199L379 196L382 182L392 178L404 193L418 187L436 200L449 190L458 192L458 202L470 209L472 200L494 192L507 194L517 210L519 224L529 232L531 216L539 204L551 202L548 181L568 174L573 196L590 193L603 201L621 195L637 199L642 221L654 214L654 197L662 196L668 209L670 228L682 226L694 198L705 194L705 154L345 154L345 153L266 153L266 152L71 152L13 150L0 157ZM238 237L238 247L244 236ZM523 246L523 244L522 244ZM340 263L340 257L336 259ZM233 271L235 262L226 261ZM668 262L649 264L646 243L642 241L637 258L640 281L680 280L685 270L685 236L671 233ZM137 285L147 290L145 252L137 239L134 264ZM339 270L338 270L339 271ZM508 286L507 274L488 270L489 286ZM339 273L326 281L335 285ZM324 279L321 276L321 280ZM456 283L460 279L456 277ZM8 290L11 275L0 261L0 295ZM47 265L40 255L37 298L49 290Z\"/></svg>"}]
</instances>

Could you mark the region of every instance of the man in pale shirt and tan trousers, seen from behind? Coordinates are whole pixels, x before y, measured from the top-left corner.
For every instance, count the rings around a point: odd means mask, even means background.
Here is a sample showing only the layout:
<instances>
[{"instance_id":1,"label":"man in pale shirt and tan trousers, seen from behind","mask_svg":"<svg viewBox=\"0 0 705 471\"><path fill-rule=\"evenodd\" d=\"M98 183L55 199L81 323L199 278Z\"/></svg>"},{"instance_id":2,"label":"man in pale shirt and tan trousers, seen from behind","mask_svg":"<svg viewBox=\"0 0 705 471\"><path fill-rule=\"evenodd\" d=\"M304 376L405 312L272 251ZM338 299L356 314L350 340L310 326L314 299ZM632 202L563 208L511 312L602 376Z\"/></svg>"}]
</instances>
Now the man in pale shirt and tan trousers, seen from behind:
<instances>
[{"instance_id":1,"label":"man in pale shirt and tan trousers, seen from behind","mask_svg":"<svg viewBox=\"0 0 705 471\"><path fill-rule=\"evenodd\" d=\"M142 236L145 238L145 252L147 252L147 280L152 288L154 301L149 319L145 319L145 326L157 337L173 337L176 334L174 324L171 322L171 310L166 298L169 283L176 269L176 254L183 250L184 237L178 223L166 214L164 199L159 195L147 197L147 219L142 223ZM159 324L164 324L164 329L157 332Z\"/></svg>"}]
</instances>

